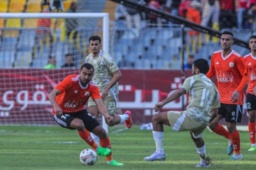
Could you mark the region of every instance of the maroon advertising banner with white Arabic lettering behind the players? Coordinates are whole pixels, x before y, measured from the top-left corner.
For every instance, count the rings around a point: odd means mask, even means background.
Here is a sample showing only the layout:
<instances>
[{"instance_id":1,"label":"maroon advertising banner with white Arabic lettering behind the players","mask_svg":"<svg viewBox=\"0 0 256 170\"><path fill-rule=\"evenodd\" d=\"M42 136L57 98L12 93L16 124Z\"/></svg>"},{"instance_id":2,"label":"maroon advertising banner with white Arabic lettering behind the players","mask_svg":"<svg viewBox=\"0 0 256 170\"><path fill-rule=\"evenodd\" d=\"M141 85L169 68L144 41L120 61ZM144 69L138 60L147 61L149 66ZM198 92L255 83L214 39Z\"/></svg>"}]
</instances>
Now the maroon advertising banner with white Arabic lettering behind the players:
<instances>
[{"instance_id":1,"label":"maroon advertising banner with white Arabic lettering behind the players","mask_svg":"<svg viewBox=\"0 0 256 170\"><path fill-rule=\"evenodd\" d=\"M121 69L117 111L132 112L134 124L151 122L156 102L165 99L182 85L180 70ZM0 124L54 124L48 94L77 69L0 69ZM186 77L192 75L186 70ZM182 110L187 96L168 103L162 111ZM120 110L121 109L121 110ZM224 123L224 120L222 120ZM243 115L242 125L248 116Z\"/></svg>"}]
</instances>

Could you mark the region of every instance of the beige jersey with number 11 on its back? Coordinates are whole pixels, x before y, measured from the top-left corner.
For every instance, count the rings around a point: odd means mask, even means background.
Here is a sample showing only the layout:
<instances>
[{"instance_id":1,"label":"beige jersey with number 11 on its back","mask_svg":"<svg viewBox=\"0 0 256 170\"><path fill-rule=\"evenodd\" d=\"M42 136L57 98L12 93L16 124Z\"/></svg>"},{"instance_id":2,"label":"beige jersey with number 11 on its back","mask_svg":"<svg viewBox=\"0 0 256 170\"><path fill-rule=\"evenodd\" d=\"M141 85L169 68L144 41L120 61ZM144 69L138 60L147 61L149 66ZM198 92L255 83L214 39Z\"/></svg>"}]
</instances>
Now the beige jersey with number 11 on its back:
<instances>
[{"instance_id":1,"label":"beige jersey with number 11 on its back","mask_svg":"<svg viewBox=\"0 0 256 170\"><path fill-rule=\"evenodd\" d=\"M185 114L208 124L211 108L220 107L220 96L214 82L205 74L196 74L185 79L182 87L189 92L189 105Z\"/></svg>"}]
</instances>

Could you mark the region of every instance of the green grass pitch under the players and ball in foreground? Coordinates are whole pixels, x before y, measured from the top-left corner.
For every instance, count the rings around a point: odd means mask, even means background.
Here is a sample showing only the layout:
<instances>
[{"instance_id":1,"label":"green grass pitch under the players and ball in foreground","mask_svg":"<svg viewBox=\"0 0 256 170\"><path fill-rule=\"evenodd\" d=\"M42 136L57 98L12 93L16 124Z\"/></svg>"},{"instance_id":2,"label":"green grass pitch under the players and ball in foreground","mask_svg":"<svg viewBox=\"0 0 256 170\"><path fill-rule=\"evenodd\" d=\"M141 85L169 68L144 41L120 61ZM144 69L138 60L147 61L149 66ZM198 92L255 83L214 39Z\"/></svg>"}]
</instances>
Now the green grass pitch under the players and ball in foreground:
<instances>
[{"instance_id":1,"label":"green grass pitch under the players and ball in foreground","mask_svg":"<svg viewBox=\"0 0 256 170\"><path fill-rule=\"evenodd\" d=\"M122 126L124 127L124 125ZM190 170L199 163L194 143L188 131L173 132L165 126L164 148L166 161L146 162L155 150L152 131L138 126L118 133L110 129L113 159L125 166L107 165L103 156L93 166L83 166L80 152L89 148L75 130L60 126L0 126L0 170ZM240 132L243 160L230 161L226 154L227 140L208 130L203 139L207 156L212 160L210 169L253 170L256 152L250 148L248 132Z\"/></svg>"}]
</instances>

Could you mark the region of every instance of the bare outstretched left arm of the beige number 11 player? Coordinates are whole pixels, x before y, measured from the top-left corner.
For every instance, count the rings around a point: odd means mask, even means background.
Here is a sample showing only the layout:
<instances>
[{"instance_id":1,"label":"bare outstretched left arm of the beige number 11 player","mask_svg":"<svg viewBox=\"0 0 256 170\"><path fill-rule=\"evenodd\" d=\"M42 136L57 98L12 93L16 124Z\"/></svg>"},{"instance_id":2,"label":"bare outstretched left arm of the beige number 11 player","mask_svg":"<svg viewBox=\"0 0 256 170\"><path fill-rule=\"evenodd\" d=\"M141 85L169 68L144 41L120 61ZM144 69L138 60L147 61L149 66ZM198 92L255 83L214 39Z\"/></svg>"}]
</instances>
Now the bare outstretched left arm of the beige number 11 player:
<instances>
[{"instance_id":1,"label":"bare outstretched left arm of the beige number 11 player","mask_svg":"<svg viewBox=\"0 0 256 170\"><path fill-rule=\"evenodd\" d=\"M155 112L158 112L163 108L165 104L168 102L172 102L173 100L179 98L180 96L186 94L186 90L184 88L180 88L179 90L175 91L173 94L168 96L166 99L164 99L162 102L156 103L155 104Z\"/></svg>"}]
</instances>

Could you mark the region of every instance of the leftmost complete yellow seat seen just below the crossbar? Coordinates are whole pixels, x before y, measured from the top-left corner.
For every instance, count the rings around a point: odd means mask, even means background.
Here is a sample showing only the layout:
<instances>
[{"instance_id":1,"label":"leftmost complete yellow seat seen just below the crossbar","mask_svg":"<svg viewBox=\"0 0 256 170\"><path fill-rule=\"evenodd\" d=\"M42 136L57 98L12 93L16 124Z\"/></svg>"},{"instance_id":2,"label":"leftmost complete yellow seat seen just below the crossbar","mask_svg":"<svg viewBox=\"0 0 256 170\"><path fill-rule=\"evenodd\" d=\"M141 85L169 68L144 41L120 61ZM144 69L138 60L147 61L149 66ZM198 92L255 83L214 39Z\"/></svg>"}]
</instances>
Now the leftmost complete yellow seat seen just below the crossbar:
<instances>
[{"instance_id":1,"label":"leftmost complete yellow seat seen just below the crossbar","mask_svg":"<svg viewBox=\"0 0 256 170\"><path fill-rule=\"evenodd\" d=\"M21 28L21 19L20 18L7 18L5 28L13 28L12 30L5 30L5 37L17 37L19 36Z\"/></svg>"}]
</instances>

